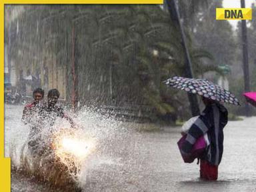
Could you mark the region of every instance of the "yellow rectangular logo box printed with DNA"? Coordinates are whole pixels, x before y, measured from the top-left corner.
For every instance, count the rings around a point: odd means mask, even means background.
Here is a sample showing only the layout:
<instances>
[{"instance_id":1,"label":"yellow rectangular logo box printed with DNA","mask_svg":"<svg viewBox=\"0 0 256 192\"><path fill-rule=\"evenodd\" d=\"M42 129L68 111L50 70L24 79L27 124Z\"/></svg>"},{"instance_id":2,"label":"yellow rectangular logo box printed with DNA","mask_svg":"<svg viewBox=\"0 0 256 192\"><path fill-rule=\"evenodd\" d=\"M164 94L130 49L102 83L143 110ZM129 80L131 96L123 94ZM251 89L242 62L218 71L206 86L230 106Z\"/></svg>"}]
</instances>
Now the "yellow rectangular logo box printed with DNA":
<instances>
[{"instance_id":1,"label":"yellow rectangular logo box printed with DNA","mask_svg":"<svg viewBox=\"0 0 256 192\"><path fill-rule=\"evenodd\" d=\"M251 8L216 8L216 20L251 20Z\"/></svg>"}]
</instances>

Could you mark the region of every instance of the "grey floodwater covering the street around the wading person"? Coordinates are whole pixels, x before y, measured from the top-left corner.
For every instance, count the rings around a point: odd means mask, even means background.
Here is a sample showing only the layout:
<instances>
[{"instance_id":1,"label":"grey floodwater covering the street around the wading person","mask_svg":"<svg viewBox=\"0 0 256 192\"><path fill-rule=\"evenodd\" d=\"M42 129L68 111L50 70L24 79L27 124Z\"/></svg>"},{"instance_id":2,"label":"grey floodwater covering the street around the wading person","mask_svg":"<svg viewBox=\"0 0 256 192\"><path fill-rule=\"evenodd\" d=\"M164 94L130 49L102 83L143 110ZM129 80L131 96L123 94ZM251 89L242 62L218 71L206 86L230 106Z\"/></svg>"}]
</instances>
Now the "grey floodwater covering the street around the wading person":
<instances>
[{"instance_id":1,"label":"grey floodwater covering the street around the wading person","mask_svg":"<svg viewBox=\"0 0 256 192\"><path fill-rule=\"evenodd\" d=\"M5 155L19 151L28 127L21 124L22 106L5 105ZM177 141L180 127L139 133L121 123L88 111L75 117L99 138L100 153L86 159L77 181L82 191L256 191L256 117L229 121L225 127L223 160L218 181L200 181L199 165L183 163ZM88 128L90 127L90 128ZM12 191L55 191L21 175L13 175Z\"/></svg>"}]
</instances>

